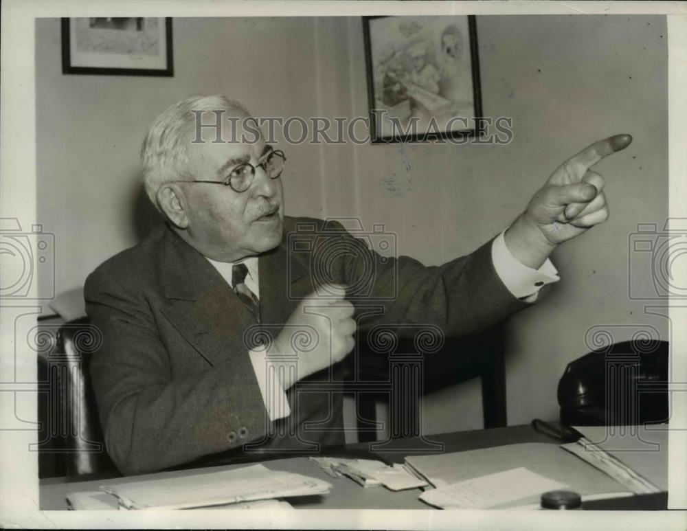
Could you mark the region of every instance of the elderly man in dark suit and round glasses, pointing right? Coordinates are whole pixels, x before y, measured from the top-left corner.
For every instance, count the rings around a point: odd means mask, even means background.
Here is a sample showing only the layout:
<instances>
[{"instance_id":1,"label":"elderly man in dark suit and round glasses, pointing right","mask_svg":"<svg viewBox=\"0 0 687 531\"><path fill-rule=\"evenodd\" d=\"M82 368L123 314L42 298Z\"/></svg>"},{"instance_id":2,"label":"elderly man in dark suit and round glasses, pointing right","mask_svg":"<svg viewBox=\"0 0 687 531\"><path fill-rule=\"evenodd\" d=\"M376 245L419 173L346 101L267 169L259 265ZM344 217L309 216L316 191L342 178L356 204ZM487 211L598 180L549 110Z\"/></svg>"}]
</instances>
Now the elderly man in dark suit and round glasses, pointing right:
<instances>
[{"instance_id":1,"label":"elderly man in dark suit and round glasses, pointing right","mask_svg":"<svg viewBox=\"0 0 687 531\"><path fill-rule=\"evenodd\" d=\"M340 392L303 384L341 379L357 324L429 323L455 336L528 306L558 279L548 261L556 246L608 217L603 179L589 168L631 142L592 144L504 233L424 267L382 258L341 225L284 216L281 150L261 137L212 142L214 132L198 142L198 117L221 112L248 117L207 96L157 118L142 161L166 223L86 282L87 312L104 337L91 365L95 395L106 448L125 474L216 453L342 444ZM249 136L234 123L236 138ZM306 244L299 252L289 234ZM361 301L381 311L361 319Z\"/></svg>"}]
</instances>

